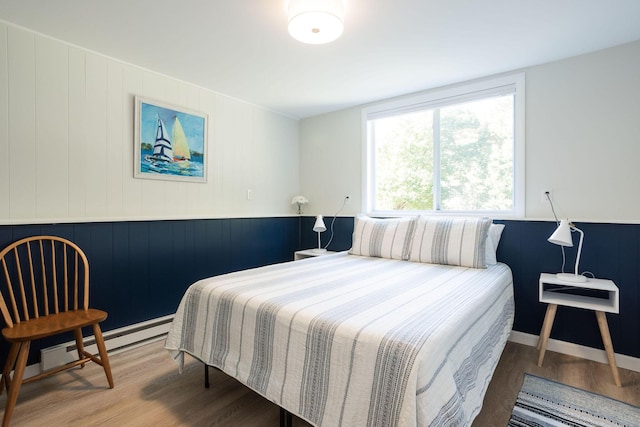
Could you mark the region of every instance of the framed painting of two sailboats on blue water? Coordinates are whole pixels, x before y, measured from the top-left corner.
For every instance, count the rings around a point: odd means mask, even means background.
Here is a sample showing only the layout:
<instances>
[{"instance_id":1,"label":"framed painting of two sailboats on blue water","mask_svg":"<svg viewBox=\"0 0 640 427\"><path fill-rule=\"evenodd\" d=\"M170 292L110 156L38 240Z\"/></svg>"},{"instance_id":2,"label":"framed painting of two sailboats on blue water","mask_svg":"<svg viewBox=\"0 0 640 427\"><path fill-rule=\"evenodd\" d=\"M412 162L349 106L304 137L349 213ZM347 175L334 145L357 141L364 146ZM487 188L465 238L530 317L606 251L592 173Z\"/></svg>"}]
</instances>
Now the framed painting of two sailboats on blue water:
<instances>
[{"instance_id":1,"label":"framed painting of two sailboats on blue water","mask_svg":"<svg viewBox=\"0 0 640 427\"><path fill-rule=\"evenodd\" d=\"M136 178L207 182L207 115L136 96Z\"/></svg>"}]
</instances>

